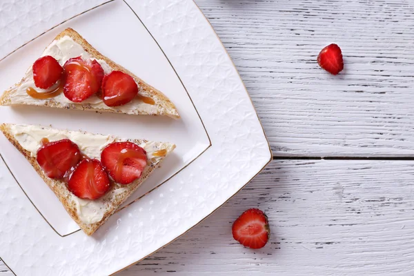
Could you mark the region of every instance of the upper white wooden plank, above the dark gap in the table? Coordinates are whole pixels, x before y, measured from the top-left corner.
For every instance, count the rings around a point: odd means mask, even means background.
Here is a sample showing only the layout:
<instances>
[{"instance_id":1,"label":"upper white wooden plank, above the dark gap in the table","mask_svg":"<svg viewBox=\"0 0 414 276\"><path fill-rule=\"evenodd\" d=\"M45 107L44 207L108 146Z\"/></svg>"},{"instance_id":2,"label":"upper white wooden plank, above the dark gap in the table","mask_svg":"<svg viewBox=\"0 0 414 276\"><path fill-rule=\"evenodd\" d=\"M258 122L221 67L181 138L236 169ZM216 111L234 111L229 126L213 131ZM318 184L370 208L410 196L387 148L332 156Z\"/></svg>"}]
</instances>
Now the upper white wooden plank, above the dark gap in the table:
<instances>
[{"instance_id":1,"label":"upper white wooden plank, above the dark gap in the table","mask_svg":"<svg viewBox=\"0 0 414 276\"><path fill-rule=\"evenodd\" d=\"M279 156L414 155L410 0L196 0L233 58ZM345 70L319 51L337 43Z\"/></svg>"}]
</instances>

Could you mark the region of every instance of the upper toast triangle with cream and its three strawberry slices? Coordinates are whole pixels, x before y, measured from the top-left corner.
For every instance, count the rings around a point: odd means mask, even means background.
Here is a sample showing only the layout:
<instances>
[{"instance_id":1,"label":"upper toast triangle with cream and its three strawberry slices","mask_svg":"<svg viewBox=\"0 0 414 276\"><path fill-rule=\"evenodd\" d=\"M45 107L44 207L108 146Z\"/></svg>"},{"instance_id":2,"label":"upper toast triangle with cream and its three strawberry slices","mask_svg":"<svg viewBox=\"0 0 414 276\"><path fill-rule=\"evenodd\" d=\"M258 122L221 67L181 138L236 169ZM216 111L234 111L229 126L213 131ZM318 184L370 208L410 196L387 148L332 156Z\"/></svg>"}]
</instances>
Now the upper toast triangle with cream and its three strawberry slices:
<instances>
[{"instance_id":1,"label":"upper toast triangle with cream and its three strawberry slices","mask_svg":"<svg viewBox=\"0 0 414 276\"><path fill-rule=\"evenodd\" d=\"M99 41L99 48L105 50L108 37L106 37L104 32L99 34L96 39L96 41ZM117 41L117 43L119 43L119 50L121 51L123 44L128 43L128 39L125 41ZM134 53L128 53L128 55L134 55ZM179 119L177 108L166 95L134 75L134 71L131 72L108 59L108 57L101 55L86 39L71 28L67 28L58 34L43 51L42 56L50 56L56 59L60 66L65 64L68 66L67 63L70 59L73 61L73 59L79 59L79 56L81 56L82 62L79 61L79 63L82 63L81 66L72 68L73 70L70 73L68 73L69 68L65 70L66 87L64 88L64 94L61 94L59 91L49 93L48 95L38 95L39 93L45 92L40 88L46 88L50 86L50 83L56 83L57 79L54 74L49 75L48 72L50 70L46 70L47 67L45 67L45 72L41 70L41 73L39 73L30 66L26 70L26 75L19 83L3 92L3 95L0 97L1 106L23 104L130 115L163 115ZM86 63L86 65L83 63ZM57 65L57 63L48 64ZM39 66L34 67L43 68ZM81 70L81 68L90 68L90 72ZM121 72L130 77L128 81L121 85L124 88L126 87L126 92L117 90L117 85L113 79L108 79L107 85L105 86L109 95L106 98L107 104L103 102L103 97L99 97L100 93L97 93L101 88L101 77L103 77L101 75L101 69L103 69L105 75L110 75L111 72ZM34 79L34 73L39 79ZM95 78L91 78L90 75L95 75ZM119 74L117 73L115 75ZM132 85L130 79L134 81L137 87ZM159 79L162 79L161 75ZM139 95L137 94L138 90ZM28 96L31 98L28 99ZM112 97L114 98L112 99ZM126 102L129 102L128 108L124 108L123 106Z\"/></svg>"}]
</instances>

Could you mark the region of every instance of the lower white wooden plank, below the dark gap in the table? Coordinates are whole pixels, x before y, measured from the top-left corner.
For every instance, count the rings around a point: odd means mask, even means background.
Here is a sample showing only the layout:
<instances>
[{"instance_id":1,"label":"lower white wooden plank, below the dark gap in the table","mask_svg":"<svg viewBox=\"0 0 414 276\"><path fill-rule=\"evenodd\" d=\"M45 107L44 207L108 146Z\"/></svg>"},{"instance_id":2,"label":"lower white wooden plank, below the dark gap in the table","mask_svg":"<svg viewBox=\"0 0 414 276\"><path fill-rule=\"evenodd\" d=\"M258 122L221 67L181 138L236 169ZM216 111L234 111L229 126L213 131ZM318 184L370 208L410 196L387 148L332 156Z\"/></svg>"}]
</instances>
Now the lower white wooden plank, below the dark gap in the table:
<instances>
[{"instance_id":1,"label":"lower white wooden plank, below the dark gap in the table","mask_svg":"<svg viewBox=\"0 0 414 276\"><path fill-rule=\"evenodd\" d=\"M414 275L413 174L414 161L275 160L190 233L119 276ZM271 224L260 250L231 235L252 207Z\"/></svg>"}]
</instances>

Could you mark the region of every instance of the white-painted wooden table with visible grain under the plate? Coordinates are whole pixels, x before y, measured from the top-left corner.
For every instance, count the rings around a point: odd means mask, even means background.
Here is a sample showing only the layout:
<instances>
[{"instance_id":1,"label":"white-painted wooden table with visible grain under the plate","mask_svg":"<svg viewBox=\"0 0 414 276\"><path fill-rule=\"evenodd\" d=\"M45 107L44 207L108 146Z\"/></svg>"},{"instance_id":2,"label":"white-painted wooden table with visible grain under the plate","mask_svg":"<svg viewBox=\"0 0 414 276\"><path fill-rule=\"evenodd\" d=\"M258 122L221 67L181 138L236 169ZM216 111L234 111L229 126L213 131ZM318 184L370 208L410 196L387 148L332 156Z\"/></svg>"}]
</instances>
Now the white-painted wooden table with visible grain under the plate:
<instances>
[{"instance_id":1,"label":"white-painted wooden table with visible grain under the plate","mask_svg":"<svg viewBox=\"0 0 414 276\"><path fill-rule=\"evenodd\" d=\"M414 275L414 1L196 2L242 75L275 160L119 275ZM337 77L315 61L329 43L344 53ZM231 235L251 207L271 224L260 250Z\"/></svg>"}]
</instances>

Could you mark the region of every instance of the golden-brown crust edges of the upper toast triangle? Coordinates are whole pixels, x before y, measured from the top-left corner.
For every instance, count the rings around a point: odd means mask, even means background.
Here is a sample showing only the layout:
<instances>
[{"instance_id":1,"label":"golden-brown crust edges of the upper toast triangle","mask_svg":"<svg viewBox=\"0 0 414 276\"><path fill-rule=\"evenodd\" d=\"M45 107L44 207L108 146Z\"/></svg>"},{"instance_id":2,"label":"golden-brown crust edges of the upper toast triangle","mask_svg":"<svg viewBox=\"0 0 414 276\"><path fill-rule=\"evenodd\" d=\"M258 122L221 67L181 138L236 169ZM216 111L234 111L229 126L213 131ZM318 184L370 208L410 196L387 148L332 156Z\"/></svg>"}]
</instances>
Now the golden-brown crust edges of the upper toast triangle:
<instances>
[{"instance_id":1,"label":"golden-brown crust edges of the upper toast triangle","mask_svg":"<svg viewBox=\"0 0 414 276\"><path fill-rule=\"evenodd\" d=\"M138 87L141 91L145 91L146 93L148 93L148 95L153 95L155 97L157 97L157 99L159 99L159 101L157 101L157 106L161 107L161 110L165 110L164 112L157 112L157 114L148 114L145 111L137 111L137 115L165 115L168 117L172 117L174 119L179 119L179 114L177 112L177 108L175 108L174 103L172 103L170 101L170 99L168 99L168 97L166 97L161 91L157 90L156 88L153 88L152 86L150 86L148 83L146 83L145 81L143 81L142 79L140 79L139 77L135 76L134 74L132 74L132 72L126 70L126 68L119 66L119 64L115 63L114 61L108 59L108 57L105 57L103 55L101 55L100 52L98 52L95 48L93 48L93 46L90 45L90 43L88 43L88 41L86 41L86 39L83 39L83 37L81 37L81 35L79 33L77 33L75 30L73 30L72 28L66 28L65 30L63 30L61 33L59 33L57 35L57 37L55 37L54 41L57 39L60 39L64 36L68 36L71 37L75 42L79 43L79 45L81 45L83 47L83 49L86 50L86 52L88 52L88 54L90 54L91 57L95 58L95 59L102 59L103 61L106 61L106 63L108 63L108 65L113 69L113 70L119 70L121 72L125 72L126 74L130 75L132 78L135 79L135 81L137 81L138 83ZM15 84L12 88L10 88L9 90L6 90L5 92L3 92L3 95L0 97L0 105L1 106L10 106L13 104L12 101L12 92L21 85L21 83L23 83L23 81L25 81L25 78L23 77L23 79L21 79L21 81L17 84ZM46 101L46 102L42 102L39 103L39 106L48 106L48 107L52 107L52 108L63 108L63 109L77 109L77 110L93 110L93 111L98 111L98 112L113 112L113 113L124 113L121 110L117 110L115 108L110 108L110 109L106 109L106 108L95 108L93 106L90 106L90 104L88 103L81 103L81 104L69 104L69 105L64 105L62 103L58 103L57 101Z\"/></svg>"}]
</instances>

